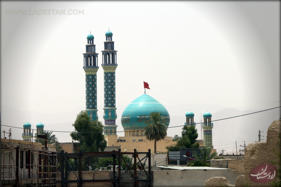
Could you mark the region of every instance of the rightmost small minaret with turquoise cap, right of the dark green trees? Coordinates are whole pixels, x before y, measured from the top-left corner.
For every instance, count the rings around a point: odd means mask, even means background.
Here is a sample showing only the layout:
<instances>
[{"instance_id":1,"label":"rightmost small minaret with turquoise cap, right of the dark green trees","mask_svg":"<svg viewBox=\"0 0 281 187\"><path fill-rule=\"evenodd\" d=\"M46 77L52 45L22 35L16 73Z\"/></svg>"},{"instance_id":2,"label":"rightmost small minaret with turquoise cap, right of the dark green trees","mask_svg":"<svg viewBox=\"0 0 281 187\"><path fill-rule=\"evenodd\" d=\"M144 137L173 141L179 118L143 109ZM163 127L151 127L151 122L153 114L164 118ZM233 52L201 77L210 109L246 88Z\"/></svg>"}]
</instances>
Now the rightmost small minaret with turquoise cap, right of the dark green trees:
<instances>
[{"instance_id":1,"label":"rightmost small minaret with turquoise cap, right of the dark green trees","mask_svg":"<svg viewBox=\"0 0 281 187\"><path fill-rule=\"evenodd\" d=\"M211 117L212 114L208 111L203 114L204 122L202 128L203 128L204 146L206 148L211 147L213 149L213 137L212 137L213 123L211 123Z\"/></svg>"}]
</instances>

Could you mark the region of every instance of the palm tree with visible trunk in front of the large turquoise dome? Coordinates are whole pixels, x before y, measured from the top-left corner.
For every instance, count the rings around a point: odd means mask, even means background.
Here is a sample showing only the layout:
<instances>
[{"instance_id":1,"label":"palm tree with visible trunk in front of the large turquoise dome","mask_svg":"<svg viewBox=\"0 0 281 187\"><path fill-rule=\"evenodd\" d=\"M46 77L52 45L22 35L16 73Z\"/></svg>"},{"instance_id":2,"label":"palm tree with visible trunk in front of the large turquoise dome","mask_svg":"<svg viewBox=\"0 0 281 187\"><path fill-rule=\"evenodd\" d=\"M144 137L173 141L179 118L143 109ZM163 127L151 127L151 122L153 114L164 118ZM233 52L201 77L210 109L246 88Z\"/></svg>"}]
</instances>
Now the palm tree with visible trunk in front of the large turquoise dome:
<instances>
[{"instance_id":1,"label":"palm tree with visible trunk in front of the large turquoise dome","mask_svg":"<svg viewBox=\"0 0 281 187\"><path fill-rule=\"evenodd\" d=\"M163 140L167 136L167 123L164 123L164 117L160 112L152 112L149 115L147 126L145 127L145 137L151 141L154 140L154 154L156 154L156 141Z\"/></svg>"}]
</instances>

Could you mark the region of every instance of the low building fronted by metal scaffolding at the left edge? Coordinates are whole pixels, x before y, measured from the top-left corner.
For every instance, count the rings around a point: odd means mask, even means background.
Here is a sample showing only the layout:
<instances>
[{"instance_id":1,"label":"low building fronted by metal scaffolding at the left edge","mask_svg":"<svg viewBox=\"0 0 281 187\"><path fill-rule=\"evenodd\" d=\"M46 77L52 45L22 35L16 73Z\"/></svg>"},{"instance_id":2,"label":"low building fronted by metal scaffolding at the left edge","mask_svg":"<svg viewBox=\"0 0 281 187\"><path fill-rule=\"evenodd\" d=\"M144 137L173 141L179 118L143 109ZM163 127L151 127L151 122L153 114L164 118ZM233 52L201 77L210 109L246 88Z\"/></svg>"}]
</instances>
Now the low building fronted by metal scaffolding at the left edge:
<instances>
[{"instance_id":1,"label":"low building fronted by metal scaffolding at the left edge","mask_svg":"<svg viewBox=\"0 0 281 187\"><path fill-rule=\"evenodd\" d=\"M3 133L5 138L1 139L2 186L55 186L55 146L47 146L46 139L44 147L41 143L33 141L12 140L11 130L9 133ZM9 138L6 139L6 136Z\"/></svg>"}]
</instances>

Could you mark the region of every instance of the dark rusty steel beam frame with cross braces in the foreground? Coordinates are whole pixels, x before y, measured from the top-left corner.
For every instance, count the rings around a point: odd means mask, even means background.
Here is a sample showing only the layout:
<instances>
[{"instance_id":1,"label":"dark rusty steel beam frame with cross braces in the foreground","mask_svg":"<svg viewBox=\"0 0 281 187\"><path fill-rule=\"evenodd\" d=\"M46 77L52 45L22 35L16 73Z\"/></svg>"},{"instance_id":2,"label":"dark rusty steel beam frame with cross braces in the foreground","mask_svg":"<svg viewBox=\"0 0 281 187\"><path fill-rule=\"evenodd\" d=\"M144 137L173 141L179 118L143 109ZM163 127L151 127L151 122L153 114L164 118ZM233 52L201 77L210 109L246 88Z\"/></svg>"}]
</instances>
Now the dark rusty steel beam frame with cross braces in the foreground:
<instances>
[{"instance_id":1,"label":"dark rusty steel beam frame with cross braces in the foreground","mask_svg":"<svg viewBox=\"0 0 281 187\"><path fill-rule=\"evenodd\" d=\"M139 154L145 154L145 156L140 159ZM124 155L132 155L132 158L129 162L124 159ZM82 179L82 160L85 163L86 159L90 162L91 158L98 157L112 157L113 161L113 179L110 180L84 180ZM70 164L69 159L74 159L74 163ZM148 159L148 170L145 169L144 163ZM107 151L107 152L80 152L80 153L65 153L63 150L61 153L57 153L57 169L61 173L61 179L57 180L57 183L60 183L62 187L67 186L69 183L77 183L77 186L82 187L83 183L95 183L95 182L111 182L113 186L122 186L127 182L132 182L132 186L138 187L140 182L141 186L150 187L151 186L151 151L148 152L137 152L134 149L134 152L121 152L121 149L118 151ZM121 164L118 165L118 171L116 172L116 161L118 163L124 162L126 168L124 171L121 171ZM133 162L132 162L133 161ZM133 163L133 164L130 164ZM75 172L75 168L78 165L78 175ZM84 166L85 167L85 166ZM143 171L143 172L142 172ZM73 172L76 176L76 180L67 180L70 172ZM129 172L131 179L125 179L125 174ZM121 174L122 173L122 174ZM128 176L128 175L126 175Z\"/></svg>"}]
</instances>

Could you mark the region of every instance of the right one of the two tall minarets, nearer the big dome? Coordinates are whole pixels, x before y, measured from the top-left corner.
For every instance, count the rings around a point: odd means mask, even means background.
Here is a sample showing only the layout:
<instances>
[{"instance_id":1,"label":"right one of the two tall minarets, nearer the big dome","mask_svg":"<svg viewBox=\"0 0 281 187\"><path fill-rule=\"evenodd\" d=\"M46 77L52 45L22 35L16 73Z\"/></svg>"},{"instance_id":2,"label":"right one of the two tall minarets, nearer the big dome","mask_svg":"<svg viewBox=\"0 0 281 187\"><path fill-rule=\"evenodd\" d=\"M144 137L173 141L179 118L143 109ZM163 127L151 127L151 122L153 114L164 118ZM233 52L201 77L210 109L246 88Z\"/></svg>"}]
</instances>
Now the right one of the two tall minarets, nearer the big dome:
<instances>
[{"instance_id":1,"label":"right one of the two tall minarets, nearer the big dome","mask_svg":"<svg viewBox=\"0 0 281 187\"><path fill-rule=\"evenodd\" d=\"M116 135L117 125L116 106L115 106L115 70L117 68L116 53L114 50L114 41L112 41L112 32L106 32L106 41L102 52L101 67L104 70L104 135ZM108 141L107 141L108 142Z\"/></svg>"}]
</instances>

